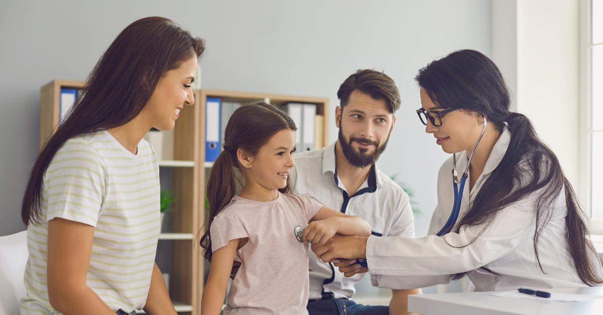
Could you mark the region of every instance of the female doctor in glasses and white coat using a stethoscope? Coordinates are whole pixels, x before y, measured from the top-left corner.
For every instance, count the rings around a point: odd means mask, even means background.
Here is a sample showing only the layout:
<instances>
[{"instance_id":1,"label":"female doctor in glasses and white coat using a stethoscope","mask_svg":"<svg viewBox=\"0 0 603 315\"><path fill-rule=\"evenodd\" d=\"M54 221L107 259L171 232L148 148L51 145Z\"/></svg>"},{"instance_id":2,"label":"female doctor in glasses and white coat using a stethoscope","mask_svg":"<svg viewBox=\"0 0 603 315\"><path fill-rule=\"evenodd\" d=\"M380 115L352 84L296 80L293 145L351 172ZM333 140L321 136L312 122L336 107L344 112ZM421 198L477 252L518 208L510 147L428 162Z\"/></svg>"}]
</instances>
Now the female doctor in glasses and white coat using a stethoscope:
<instances>
[{"instance_id":1,"label":"female doctor in glasses and white coat using a stethoscope","mask_svg":"<svg viewBox=\"0 0 603 315\"><path fill-rule=\"evenodd\" d=\"M369 272L374 286L395 289L464 276L475 291L603 283L572 186L529 119L509 111L510 93L493 61L456 51L419 70L415 80L426 132L453 154L438 173L428 235L337 236L313 244L317 256L346 276Z\"/></svg>"}]
</instances>

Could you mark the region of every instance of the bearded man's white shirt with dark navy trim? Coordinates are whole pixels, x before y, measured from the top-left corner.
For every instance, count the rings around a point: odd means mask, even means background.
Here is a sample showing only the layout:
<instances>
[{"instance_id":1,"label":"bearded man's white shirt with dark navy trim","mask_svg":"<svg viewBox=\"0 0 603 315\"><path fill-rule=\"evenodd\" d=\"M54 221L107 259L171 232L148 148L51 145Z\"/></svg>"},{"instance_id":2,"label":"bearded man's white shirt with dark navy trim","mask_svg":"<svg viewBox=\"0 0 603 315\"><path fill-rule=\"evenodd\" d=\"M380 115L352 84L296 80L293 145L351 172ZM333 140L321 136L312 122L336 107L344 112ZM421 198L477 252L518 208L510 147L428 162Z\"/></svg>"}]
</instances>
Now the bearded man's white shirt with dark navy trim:
<instances>
[{"instance_id":1,"label":"bearded man's white shirt with dark navy trim","mask_svg":"<svg viewBox=\"0 0 603 315\"><path fill-rule=\"evenodd\" d=\"M358 192L349 196L337 176L335 143L328 148L294 155L289 180L297 195L311 195L325 207L366 220L373 235L414 237L414 217L408 195L374 165ZM332 263L310 252L309 299L351 298L363 274L346 278Z\"/></svg>"}]
</instances>

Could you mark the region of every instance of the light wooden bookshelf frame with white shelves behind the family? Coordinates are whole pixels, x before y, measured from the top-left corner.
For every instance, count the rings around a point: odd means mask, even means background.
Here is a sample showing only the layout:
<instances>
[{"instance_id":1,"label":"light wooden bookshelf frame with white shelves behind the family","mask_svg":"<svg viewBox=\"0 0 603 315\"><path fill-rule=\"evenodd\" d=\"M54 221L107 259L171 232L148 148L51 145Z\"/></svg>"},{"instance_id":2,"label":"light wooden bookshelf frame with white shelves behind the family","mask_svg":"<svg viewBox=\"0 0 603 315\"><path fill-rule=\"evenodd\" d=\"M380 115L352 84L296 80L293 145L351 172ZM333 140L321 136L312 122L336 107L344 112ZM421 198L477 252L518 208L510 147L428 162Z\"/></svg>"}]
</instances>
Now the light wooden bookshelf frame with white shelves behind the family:
<instances>
[{"instance_id":1,"label":"light wooden bookshelf frame with white shelves behind the family","mask_svg":"<svg viewBox=\"0 0 603 315\"><path fill-rule=\"evenodd\" d=\"M59 121L60 89L81 89L82 81L54 80L41 89L40 95L40 146L54 133ZM205 105L208 96L223 102L267 101L274 105L286 102L311 103L317 105L317 115L322 115L322 141L317 148L329 144L329 99L308 96L288 96L265 93L231 92L220 90L193 90L195 104L180 111L173 132L172 160L160 161L160 167L169 167L170 190L175 203L169 214L169 231L160 234L160 242L169 246L169 294L179 314L200 314L201 295L204 284L204 263L199 237L204 232L206 219L205 180L212 163L205 161ZM319 130L319 128L317 128ZM317 138L317 139L318 139ZM165 155L165 151L164 151ZM162 183L162 186L164 183ZM165 228L164 228L165 230ZM159 264L159 263L158 263ZM191 311L192 310L192 311Z\"/></svg>"}]
</instances>

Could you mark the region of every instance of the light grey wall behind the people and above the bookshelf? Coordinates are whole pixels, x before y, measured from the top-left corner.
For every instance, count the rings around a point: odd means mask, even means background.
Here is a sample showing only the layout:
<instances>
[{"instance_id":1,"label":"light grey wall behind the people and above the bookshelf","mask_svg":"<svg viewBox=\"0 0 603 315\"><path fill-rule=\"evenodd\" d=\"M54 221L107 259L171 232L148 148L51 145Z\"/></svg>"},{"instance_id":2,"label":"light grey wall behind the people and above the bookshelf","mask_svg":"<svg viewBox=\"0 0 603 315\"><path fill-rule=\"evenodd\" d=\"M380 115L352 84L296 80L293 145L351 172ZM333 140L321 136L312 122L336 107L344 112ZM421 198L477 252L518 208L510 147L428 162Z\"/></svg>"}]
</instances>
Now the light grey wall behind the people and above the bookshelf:
<instances>
[{"instance_id":1,"label":"light grey wall behind the people and above the bookshelf","mask_svg":"<svg viewBox=\"0 0 603 315\"><path fill-rule=\"evenodd\" d=\"M39 89L84 80L128 23L161 15L207 40L203 87L327 96L356 69L385 70L402 107L379 167L415 190L425 235L435 177L446 158L425 134L412 80L434 58L460 48L491 56L491 2L440 1L13 1L0 2L0 235L24 229L20 204L37 154ZM334 116L334 115L333 115ZM331 116L331 117L333 117ZM330 139L337 129L331 122Z\"/></svg>"}]
</instances>

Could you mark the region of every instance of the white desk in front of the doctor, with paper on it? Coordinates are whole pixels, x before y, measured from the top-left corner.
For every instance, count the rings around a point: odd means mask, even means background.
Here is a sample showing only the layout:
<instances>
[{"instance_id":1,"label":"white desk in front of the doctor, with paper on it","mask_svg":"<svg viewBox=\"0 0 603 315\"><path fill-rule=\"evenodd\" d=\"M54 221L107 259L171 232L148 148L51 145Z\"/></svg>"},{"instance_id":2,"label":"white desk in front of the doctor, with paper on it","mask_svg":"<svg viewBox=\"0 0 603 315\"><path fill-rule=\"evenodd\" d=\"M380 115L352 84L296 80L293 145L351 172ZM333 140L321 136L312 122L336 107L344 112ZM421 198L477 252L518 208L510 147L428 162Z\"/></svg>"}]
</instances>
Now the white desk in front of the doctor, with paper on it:
<instances>
[{"instance_id":1,"label":"white desk in front of the doctor, with paper on it","mask_svg":"<svg viewBox=\"0 0 603 315\"><path fill-rule=\"evenodd\" d=\"M557 288L543 291L603 296L603 287ZM603 314L603 298L586 302L554 302L546 299L488 296L489 294L492 292L409 295L408 311L423 315Z\"/></svg>"}]
</instances>

